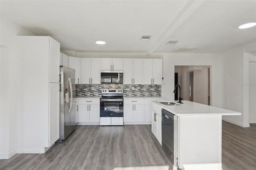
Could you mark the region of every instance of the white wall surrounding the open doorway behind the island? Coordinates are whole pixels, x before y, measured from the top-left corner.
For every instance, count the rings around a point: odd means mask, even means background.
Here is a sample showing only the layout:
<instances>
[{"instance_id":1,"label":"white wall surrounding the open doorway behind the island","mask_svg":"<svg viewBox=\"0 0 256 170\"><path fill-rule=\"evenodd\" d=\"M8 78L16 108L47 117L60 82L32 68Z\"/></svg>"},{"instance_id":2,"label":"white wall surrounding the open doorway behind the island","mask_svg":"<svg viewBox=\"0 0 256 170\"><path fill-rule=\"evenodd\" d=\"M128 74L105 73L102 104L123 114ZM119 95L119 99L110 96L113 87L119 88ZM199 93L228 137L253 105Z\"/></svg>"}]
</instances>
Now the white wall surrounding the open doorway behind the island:
<instances>
[{"instance_id":1,"label":"white wall surrounding the open doorway behind the island","mask_svg":"<svg viewBox=\"0 0 256 170\"><path fill-rule=\"evenodd\" d=\"M174 66L208 65L212 66L212 105L222 107L222 67L219 54L165 53L163 56L162 96L174 100Z\"/></svg>"}]
</instances>

